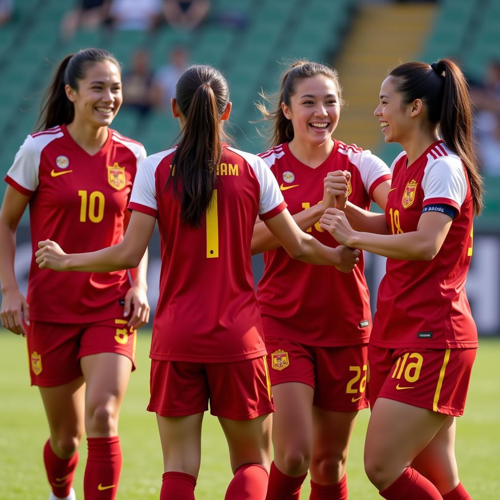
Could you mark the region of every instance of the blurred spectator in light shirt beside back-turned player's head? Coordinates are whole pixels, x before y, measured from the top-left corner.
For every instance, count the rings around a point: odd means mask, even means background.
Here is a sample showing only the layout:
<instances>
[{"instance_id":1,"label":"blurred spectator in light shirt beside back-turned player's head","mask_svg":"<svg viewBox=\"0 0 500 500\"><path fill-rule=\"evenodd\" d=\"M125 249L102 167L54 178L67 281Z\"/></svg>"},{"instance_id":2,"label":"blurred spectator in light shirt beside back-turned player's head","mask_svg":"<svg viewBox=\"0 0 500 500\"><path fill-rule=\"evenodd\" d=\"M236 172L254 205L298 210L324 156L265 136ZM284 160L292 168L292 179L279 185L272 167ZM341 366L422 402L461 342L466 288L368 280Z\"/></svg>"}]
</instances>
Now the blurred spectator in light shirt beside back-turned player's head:
<instances>
[{"instance_id":1,"label":"blurred spectator in light shirt beside back-turned player's head","mask_svg":"<svg viewBox=\"0 0 500 500\"><path fill-rule=\"evenodd\" d=\"M169 54L169 62L161 66L154 75L153 100L159 109L170 108L170 99L175 96L175 85L181 73L189 63L189 52L177 46Z\"/></svg>"}]
</instances>

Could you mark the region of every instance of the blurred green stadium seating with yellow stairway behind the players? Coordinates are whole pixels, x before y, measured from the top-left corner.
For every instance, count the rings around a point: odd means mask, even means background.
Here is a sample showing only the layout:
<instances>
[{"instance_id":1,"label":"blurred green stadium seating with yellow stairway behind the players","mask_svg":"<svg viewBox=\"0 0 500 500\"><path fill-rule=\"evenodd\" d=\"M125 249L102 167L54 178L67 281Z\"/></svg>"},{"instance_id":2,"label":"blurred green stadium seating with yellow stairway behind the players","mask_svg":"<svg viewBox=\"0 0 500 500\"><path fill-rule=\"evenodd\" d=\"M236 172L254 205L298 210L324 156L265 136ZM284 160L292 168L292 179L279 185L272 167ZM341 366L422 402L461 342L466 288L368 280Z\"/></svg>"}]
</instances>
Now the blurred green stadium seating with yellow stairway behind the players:
<instances>
[{"instance_id":1,"label":"blurred green stadium seating with yellow stairway behind the players","mask_svg":"<svg viewBox=\"0 0 500 500\"><path fill-rule=\"evenodd\" d=\"M381 143L371 117L376 91L387 69L398 59L430 61L459 55L467 74L481 80L487 62L500 57L500 3L495 0L441 0L434 5L385 3L376 8L357 0L239 0L237 4L213 0L208 20L194 31L166 25L154 33L81 29L62 42L59 22L71 7L69 3L17 1L12 20L0 28L3 173L26 133L33 129L41 91L53 65L65 53L85 46L107 48L125 65L136 47L144 47L150 51L153 67L158 67L172 46L183 45L192 62L221 68L231 84L234 106L228 130L239 147L253 152L265 147L265 139L255 130L258 115L253 103L261 88L267 92L276 89L283 69L279 62L298 57L333 61L349 103L336 135L371 148L387 161L396 149ZM235 9L244 20L240 26L220 20ZM408 15L405 9L413 10ZM394 32L389 35L391 28ZM398 41L384 43L386 39ZM164 111L152 113L137 131L135 114L122 109L113 126L141 140L150 152L168 147L178 133L178 124ZM494 182L487 179L490 194L482 220L488 219L489 213L494 216L500 208L500 195L496 194L500 190L492 187ZM0 193L3 190L2 185Z\"/></svg>"}]
</instances>

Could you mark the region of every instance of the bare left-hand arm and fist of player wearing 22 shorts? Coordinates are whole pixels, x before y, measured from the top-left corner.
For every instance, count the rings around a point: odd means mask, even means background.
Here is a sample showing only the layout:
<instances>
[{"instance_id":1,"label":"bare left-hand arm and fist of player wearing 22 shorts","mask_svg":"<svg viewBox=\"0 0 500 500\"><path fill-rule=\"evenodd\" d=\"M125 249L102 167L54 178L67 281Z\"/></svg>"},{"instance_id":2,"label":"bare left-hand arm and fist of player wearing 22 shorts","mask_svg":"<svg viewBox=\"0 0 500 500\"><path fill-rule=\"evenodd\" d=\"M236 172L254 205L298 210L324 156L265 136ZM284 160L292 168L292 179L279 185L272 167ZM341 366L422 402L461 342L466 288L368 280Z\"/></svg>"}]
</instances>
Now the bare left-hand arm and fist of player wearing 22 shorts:
<instances>
[{"instance_id":1,"label":"bare left-hand arm and fist of player wearing 22 shorts","mask_svg":"<svg viewBox=\"0 0 500 500\"><path fill-rule=\"evenodd\" d=\"M295 223L305 231L308 227L315 224L326 208L335 206L336 195L339 192L347 192L348 177L340 170L328 172L323 180L323 199L316 205L306 208L293 215ZM261 220L255 222L253 235L251 239L251 253L261 253L263 251L274 250L281 246L278 239L272 234L267 226Z\"/></svg>"}]
</instances>

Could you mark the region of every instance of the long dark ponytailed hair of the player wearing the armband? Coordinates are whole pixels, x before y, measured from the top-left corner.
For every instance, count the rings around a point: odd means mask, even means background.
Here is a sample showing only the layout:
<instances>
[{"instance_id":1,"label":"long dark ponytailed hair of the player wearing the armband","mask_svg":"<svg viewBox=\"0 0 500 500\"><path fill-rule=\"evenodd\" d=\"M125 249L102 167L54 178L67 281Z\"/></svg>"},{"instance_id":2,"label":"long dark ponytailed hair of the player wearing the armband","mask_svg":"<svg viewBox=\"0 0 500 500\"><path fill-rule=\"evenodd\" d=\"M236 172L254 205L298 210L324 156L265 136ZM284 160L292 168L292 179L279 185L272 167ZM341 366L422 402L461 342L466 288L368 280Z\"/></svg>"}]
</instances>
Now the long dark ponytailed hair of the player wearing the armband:
<instances>
[{"instance_id":1,"label":"long dark ponytailed hair of the player wearing the armband","mask_svg":"<svg viewBox=\"0 0 500 500\"><path fill-rule=\"evenodd\" d=\"M467 82L460 68L450 59L431 65L408 62L390 73L397 77L394 88L404 104L421 99L432 125L439 124L439 135L462 160L467 171L474 213L482 210L483 182L477 166L472 140L472 106Z\"/></svg>"}]
</instances>

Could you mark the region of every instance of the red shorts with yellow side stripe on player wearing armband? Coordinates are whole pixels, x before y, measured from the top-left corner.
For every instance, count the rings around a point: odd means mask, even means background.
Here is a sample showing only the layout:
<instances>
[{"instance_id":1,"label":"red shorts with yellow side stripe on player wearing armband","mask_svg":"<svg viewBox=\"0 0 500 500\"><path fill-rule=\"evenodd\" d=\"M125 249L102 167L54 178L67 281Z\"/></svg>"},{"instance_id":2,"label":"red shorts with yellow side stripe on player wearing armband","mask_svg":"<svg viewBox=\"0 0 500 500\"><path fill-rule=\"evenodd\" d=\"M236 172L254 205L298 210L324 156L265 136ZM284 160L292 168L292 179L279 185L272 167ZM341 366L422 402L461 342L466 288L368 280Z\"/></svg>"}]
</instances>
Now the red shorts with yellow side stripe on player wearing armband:
<instances>
[{"instance_id":1,"label":"red shorts with yellow side stripe on player wearing armband","mask_svg":"<svg viewBox=\"0 0 500 500\"><path fill-rule=\"evenodd\" d=\"M476 349L386 349L368 347L368 395L463 414Z\"/></svg>"}]
</instances>

